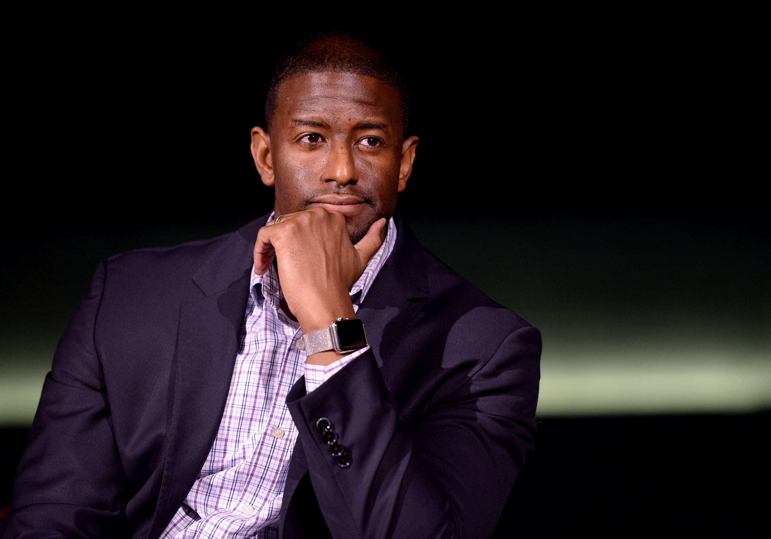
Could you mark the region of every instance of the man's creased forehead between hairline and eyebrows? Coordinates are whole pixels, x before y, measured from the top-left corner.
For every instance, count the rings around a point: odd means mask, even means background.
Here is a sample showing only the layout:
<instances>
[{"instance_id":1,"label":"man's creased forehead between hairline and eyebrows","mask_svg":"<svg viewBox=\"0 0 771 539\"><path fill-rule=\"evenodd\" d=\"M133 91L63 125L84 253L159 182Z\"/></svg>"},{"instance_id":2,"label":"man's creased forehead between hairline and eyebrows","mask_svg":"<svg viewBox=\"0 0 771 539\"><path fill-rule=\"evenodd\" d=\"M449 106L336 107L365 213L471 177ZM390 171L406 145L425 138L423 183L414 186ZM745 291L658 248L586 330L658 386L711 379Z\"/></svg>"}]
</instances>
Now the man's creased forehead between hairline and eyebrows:
<instances>
[{"instance_id":1,"label":"man's creased forehead between hairline and eyebrows","mask_svg":"<svg viewBox=\"0 0 771 539\"><path fill-rule=\"evenodd\" d=\"M347 72L315 72L284 81L278 91L285 113L330 109L360 109L371 113L399 113L399 92L369 76Z\"/></svg>"}]
</instances>

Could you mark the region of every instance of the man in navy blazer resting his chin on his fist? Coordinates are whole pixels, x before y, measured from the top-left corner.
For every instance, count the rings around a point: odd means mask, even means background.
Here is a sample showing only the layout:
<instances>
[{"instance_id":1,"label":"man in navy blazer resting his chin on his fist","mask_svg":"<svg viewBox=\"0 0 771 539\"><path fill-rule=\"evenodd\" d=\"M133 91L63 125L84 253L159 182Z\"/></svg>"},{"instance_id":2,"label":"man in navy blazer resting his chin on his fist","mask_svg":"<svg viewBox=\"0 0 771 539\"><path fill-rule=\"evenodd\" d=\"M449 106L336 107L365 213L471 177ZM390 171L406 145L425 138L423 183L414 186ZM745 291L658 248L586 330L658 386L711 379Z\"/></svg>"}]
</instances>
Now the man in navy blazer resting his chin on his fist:
<instances>
[{"instance_id":1,"label":"man in navy blazer resting his chin on his fist","mask_svg":"<svg viewBox=\"0 0 771 539\"><path fill-rule=\"evenodd\" d=\"M534 446L540 334L396 213L408 110L350 35L279 66L251 147L274 210L99 265L7 537L489 537Z\"/></svg>"}]
</instances>

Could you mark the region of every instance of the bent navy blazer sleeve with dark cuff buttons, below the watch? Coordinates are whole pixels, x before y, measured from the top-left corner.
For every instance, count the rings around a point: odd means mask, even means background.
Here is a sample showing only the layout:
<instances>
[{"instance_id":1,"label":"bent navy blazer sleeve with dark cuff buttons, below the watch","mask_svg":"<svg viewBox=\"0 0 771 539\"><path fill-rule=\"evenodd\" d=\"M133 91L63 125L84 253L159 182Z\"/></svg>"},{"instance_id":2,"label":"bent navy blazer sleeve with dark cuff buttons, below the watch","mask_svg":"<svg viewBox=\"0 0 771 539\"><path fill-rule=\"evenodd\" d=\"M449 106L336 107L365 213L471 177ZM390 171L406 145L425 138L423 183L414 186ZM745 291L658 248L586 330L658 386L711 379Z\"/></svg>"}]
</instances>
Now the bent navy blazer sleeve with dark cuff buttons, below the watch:
<instances>
[{"instance_id":1,"label":"bent navy blazer sleeve with dark cuff buttons, below the watch","mask_svg":"<svg viewBox=\"0 0 771 539\"><path fill-rule=\"evenodd\" d=\"M332 536L490 537L534 447L540 351L537 328L513 330L460 389L408 423L371 350L309 394L298 382L287 405ZM349 467L330 456L322 417Z\"/></svg>"}]
</instances>

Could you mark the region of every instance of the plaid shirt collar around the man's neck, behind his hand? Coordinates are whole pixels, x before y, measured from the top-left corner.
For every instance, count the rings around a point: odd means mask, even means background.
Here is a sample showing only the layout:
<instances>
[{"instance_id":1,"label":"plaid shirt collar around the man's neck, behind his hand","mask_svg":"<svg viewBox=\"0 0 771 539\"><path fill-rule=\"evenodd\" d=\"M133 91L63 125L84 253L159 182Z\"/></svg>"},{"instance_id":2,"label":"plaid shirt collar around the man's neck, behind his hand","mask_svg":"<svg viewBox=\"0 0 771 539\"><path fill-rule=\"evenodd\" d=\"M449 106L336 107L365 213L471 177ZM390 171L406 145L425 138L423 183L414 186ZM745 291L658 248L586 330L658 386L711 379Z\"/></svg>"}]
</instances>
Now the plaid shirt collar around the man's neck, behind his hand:
<instances>
[{"instance_id":1,"label":"plaid shirt collar around the man's neck, behind his hand","mask_svg":"<svg viewBox=\"0 0 771 539\"><path fill-rule=\"evenodd\" d=\"M271 211L271 214L268 215L268 221L266 222L271 221L273 215L274 212ZM388 231L385 234L385 241L383 241L382 245L380 245L380 248L375 252L372 258L369 259L367 267L362 272L361 277L356 280L351 287L351 290L348 291L348 294L351 295L351 300L355 305L361 305L361 302L364 301L365 295L367 295L369 288L372 287L375 277L377 277L380 268L383 267L383 264L385 264L385 261L389 258L395 244L396 224L393 221L393 217L391 217L388 221ZM273 308L278 309L281 305L283 294L281 293L281 285L278 282L278 272L273 264L268 266L268 271L265 271L264 275L256 275L254 273L254 262L251 264L251 283L249 291L254 303L260 308L262 308L264 298L268 298L268 301L273 305Z\"/></svg>"}]
</instances>

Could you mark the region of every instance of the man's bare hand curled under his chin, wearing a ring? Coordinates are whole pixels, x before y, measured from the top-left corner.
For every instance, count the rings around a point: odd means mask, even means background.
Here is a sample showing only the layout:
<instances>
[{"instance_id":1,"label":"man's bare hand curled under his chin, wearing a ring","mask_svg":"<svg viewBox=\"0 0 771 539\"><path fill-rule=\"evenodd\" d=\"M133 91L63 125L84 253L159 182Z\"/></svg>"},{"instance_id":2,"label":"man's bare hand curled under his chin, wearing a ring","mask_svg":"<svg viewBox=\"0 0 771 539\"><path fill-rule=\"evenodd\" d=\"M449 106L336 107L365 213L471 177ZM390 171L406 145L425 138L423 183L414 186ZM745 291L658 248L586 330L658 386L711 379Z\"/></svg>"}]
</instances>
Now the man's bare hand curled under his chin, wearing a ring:
<instances>
[{"instance_id":1,"label":"man's bare hand curled under his chin, wearing a ring","mask_svg":"<svg viewBox=\"0 0 771 539\"><path fill-rule=\"evenodd\" d=\"M284 214L269 221L254 244L254 273L263 275L275 258L281 291L303 333L328 328L335 318L354 318L348 292L378 251L385 217L351 243L345 215L324 207Z\"/></svg>"}]
</instances>

